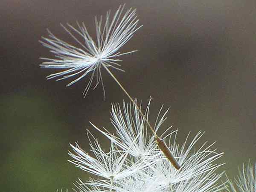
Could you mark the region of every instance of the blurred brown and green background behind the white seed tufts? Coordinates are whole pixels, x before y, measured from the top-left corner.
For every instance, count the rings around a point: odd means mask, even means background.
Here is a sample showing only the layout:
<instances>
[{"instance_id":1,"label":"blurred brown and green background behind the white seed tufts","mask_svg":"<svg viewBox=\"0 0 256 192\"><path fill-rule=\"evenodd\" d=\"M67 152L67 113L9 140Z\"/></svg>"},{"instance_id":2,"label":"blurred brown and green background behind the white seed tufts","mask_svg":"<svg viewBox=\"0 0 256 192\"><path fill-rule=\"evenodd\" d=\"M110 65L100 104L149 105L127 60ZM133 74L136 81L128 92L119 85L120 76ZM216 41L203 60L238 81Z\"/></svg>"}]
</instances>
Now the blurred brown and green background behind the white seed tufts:
<instances>
[{"instance_id":1,"label":"blurred brown and green background behind the white seed tufts","mask_svg":"<svg viewBox=\"0 0 256 192\"><path fill-rule=\"evenodd\" d=\"M88 79L46 80L56 72L41 69L39 57L52 58L38 40L50 29L70 37L60 23L84 22L95 36L95 15L120 4L137 8L140 24L121 51L122 69L113 71L131 96L152 96L150 121L160 106L170 108L162 131L179 129L181 144L205 131L205 141L223 151L229 177L256 160L256 2L255 0L1 0L0 1L0 186L6 192L72 189L89 175L71 163L69 143L88 150L86 129L106 143L89 121L113 132L111 103L128 98L103 70L106 89L82 92ZM72 41L69 41L72 43ZM108 148L106 148L107 150Z\"/></svg>"}]
</instances>

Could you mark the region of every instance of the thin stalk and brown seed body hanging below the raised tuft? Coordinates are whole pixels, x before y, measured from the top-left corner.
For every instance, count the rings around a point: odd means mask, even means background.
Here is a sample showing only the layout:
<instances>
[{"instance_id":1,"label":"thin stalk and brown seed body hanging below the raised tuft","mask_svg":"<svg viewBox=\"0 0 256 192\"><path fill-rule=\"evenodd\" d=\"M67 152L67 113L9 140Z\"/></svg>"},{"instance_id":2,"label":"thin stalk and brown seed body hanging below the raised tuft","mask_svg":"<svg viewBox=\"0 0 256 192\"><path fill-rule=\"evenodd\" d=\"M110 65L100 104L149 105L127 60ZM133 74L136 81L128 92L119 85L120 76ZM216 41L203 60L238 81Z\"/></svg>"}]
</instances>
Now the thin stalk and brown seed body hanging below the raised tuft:
<instances>
[{"instance_id":1,"label":"thin stalk and brown seed body hanging below the raised tuft","mask_svg":"<svg viewBox=\"0 0 256 192\"><path fill-rule=\"evenodd\" d=\"M166 145L166 143L164 143L164 141L160 137L157 136L157 133L154 131L154 129L152 128L152 126L148 122L148 119L145 117L144 113L141 111L141 109L139 108L137 103L134 101L134 99L131 98L129 93L125 90L125 88L122 86L122 84L116 79L116 77L113 75L113 73L111 73L111 71L108 69L108 67L105 66L105 64L102 64L102 66L107 70L107 72L110 74L110 76L116 81L116 83L119 85L119 87L125 92L125 94L128 96L128 98L131 100L131 102L136 106L136 108L138 109L140 114L143 116L143 119L145 119L145 121L148 124L150 130L154 134L155 140L157 141L157 145L161 149L161 151L163 151L163 154L165 154L165 156L168 158L168 160L172 163L172 165L176 169L180 169L180 165L178 164L178 162L175 159L175 157L172 155L172 153L169 150L168 146Z\"/></svg>"}]
</instances>

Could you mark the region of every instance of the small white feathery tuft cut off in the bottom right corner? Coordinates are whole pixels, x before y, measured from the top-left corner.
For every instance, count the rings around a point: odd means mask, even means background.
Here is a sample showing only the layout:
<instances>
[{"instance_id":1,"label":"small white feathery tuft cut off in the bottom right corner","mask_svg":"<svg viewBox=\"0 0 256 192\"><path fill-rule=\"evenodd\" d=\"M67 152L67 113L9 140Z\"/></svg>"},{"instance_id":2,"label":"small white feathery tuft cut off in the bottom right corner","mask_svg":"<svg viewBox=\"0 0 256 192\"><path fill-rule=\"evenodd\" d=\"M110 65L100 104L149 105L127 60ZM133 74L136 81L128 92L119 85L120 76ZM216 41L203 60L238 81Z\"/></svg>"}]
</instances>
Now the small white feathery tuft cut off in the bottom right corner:
<instances>
[{"instance_id":1,"label":"small white feathery tuft cut off in the bottom right corner","mask_svg":"<svg viewBox=\"0 0 256 192\"><path fill-rule=\"evenodd\" d=\"M235 182L227 179L231 190L229 192L256 192L256 164L253 165L248 163L247 168L244 167L242 171L239 171L239 175Z\"/></svg>"}]
</instances>

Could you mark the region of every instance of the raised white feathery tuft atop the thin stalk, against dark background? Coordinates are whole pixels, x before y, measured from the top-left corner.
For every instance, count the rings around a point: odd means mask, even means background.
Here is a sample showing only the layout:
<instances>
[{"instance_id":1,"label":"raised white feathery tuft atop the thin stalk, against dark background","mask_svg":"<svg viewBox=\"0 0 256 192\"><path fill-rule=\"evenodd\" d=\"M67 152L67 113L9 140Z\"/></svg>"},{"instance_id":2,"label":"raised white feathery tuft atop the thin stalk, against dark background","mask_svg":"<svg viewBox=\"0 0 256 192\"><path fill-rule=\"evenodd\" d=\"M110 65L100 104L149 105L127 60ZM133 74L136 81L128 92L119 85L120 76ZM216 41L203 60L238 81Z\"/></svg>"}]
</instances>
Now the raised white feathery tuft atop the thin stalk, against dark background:
<instances>
[{"instance_id":1,"label":"raised white feathery tuft atop the thin stalk, against dark background","mask_svg":"<svg viewBox=\"0 0 256 192\"><path fill-rule=\"evenodd\" d=\"M64 69L61 72L51 74L47 76L47 79L57 78L57 81L67 78L76 77L75 80L71 81L67 86L70 86L83 77L90 75L89 82L84 90L84 96L87 95L90 89L93 78L96 76L96 85L102 84L103 93L105 98L105 89L102 81L101 68L112 67L117 70L120 69L117 57L130 52L118 52L119 49L127 43L141 26L137 27L138 19L136 16L136 9L128 9L123 14L125 5L119 6L116 13L111 20L111 12L108 11L103 24L103 17L99 19L95 17L96 25L96 41L89 35L84 23L77 23L75 28L67 23L67 27L61 25L64 30L76 41L79 47L62 41L53 35L49 30L49 38L44 38L44 41L40 41L45 47L50 49L50 52L55 54L53 58L41 58L46 60L40 66L43 68L56 68ZM68 29L70 28L70 29ZM73 33L76 33L74 35ZM79 40L79 36L82 39ZM94 88L95 88L94 87Z\"/></svg>"}]
</instances>

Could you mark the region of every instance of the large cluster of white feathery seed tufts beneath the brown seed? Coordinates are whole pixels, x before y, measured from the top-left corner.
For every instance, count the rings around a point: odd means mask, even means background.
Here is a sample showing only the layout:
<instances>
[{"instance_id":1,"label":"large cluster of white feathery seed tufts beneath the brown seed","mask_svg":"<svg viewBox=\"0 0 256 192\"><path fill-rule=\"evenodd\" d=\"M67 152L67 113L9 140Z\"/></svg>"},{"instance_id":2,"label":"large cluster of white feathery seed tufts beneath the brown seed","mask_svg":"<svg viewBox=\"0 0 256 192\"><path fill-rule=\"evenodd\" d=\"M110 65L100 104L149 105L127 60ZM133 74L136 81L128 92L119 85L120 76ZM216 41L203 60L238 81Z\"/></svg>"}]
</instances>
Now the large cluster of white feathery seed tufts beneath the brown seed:
<instances>
[{"instance_id":1,"label":"large cluster of white feathery seed tufts beneath the brown seed","mask_svg":"<svg viewBox=\"0 0 256 192\"><path fill-rule=\"evenodd\" d=\"M149 104L145 118L148 118ZM112 105L112 123L115 136L105 129L96 128L111 141L110 151L105 153L96 138L89 134L92 156L78 145L72 146L74 154L70 156L84 171L102 178L88 181L79 180L76 186L79 191L115 191L115 192L215 192L225 186L218 180L223 173L216 173L219 166L215 160L223 153L212 149L212 144L204 143L198 150L195 144L203 136L199 133L189 142L189 135L182 145L176 142L176 131L169 130L162 137L167 146L181 165L175 169L169 160L161 153L156 142L146 131L147 124L138 113L134 104ZM161 108L162 109L162 108ZM166 113L156 121L155 130L160 128L166 119ZM93 139L91 139L93 138Z\"/></svg>"}]
</instances>

